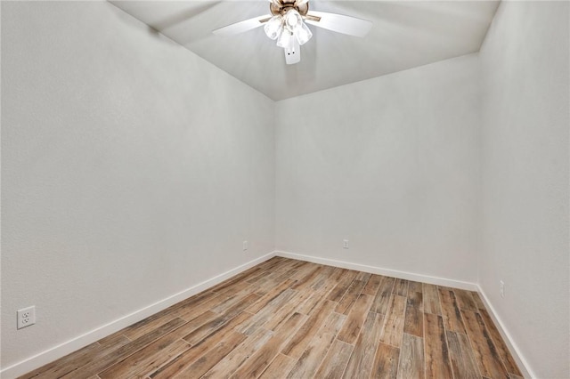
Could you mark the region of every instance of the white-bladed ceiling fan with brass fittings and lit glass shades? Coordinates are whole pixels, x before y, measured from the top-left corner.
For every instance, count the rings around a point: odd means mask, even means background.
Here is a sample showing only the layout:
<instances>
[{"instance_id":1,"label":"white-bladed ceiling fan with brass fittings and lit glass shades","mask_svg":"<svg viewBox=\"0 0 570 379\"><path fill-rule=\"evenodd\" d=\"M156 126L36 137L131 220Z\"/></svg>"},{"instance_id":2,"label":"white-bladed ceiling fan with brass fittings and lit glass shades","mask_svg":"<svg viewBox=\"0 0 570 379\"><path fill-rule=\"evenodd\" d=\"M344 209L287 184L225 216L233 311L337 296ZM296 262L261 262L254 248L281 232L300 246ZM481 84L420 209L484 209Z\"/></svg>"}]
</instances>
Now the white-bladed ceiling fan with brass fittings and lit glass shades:
<instances>
[{"instance_id":1,"label":"white-bladed ceiling fan with brass fittings and lit glass shades","mask_svg":"<svg viewBox=\"0 0 570 379\"><path fill-rule=\"evenodd\" d=\"M271 14L243 20L214 30L216 36L233 36L253 28L264 26L265 34L277 40L277 46L285 52L287 64L301 60L300 46L311 37L306 24L329 29L349 36L366 36L372 28L371 21L343 14L309 12L309 0L269 0Z\"/></svg>"}]
</instances>

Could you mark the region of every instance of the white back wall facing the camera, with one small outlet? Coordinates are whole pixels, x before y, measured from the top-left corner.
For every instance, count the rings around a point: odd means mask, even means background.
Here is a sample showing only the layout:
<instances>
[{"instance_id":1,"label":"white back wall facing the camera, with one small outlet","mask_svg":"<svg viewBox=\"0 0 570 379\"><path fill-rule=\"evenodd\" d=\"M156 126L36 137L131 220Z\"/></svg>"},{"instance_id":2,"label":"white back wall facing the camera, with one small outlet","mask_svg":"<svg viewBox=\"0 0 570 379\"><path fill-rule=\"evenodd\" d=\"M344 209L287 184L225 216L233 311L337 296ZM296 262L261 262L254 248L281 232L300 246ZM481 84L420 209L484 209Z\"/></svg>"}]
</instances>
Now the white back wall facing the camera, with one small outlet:
<instances>
[{"instance_id":1,"label":"white back wall facing the camera, with one small outlet","mask_svg":"<svg viewBox=\"0 0 570 379\"><path fill-rule=\"evenodd\" d=\"M475 282L477 70L467 55L277 102L277 250Z\"/></svg>"}]
</instances>

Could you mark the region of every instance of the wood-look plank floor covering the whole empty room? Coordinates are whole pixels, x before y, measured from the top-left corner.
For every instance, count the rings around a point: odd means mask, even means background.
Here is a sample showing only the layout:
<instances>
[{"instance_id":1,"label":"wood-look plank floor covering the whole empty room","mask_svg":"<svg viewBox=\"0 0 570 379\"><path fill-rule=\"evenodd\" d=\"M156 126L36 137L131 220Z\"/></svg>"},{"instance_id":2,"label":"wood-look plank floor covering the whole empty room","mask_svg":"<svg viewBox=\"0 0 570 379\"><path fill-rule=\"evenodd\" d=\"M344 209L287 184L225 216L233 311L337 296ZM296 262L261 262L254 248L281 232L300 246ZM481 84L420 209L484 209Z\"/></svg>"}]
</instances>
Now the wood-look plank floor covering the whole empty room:
<instances>
[{"instance_id":1,"label":"wood-look plank floor covering the whole empty room","mask_svg":"<svg viewBox=\"0 0 570 379\"><path fill-rule=\"evenodd\" d=\"M520 375L474 292L275 257L22 377Z\"/></svg>"}]
</instances>

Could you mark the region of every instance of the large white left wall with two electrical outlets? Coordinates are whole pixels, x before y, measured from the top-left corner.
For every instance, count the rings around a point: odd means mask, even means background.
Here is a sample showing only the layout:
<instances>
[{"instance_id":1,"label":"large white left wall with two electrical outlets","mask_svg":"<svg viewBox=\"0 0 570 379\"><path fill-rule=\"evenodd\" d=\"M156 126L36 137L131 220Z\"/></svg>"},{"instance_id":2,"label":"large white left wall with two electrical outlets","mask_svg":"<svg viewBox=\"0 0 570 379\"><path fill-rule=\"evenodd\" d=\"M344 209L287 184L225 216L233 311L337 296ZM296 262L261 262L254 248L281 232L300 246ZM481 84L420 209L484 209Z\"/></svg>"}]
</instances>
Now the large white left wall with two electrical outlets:
<instances>
[{"instance_id":1,"label":"large white left wall with two electrical outlets","mask_svg":"<svg viewBox=\"0 0 570 379\"><path fill-rule=\"evenodd\" d=\"M2 175L2 367L273 251L273 101L106 2L2 2Z\"/></svg>"}]
</instances>

